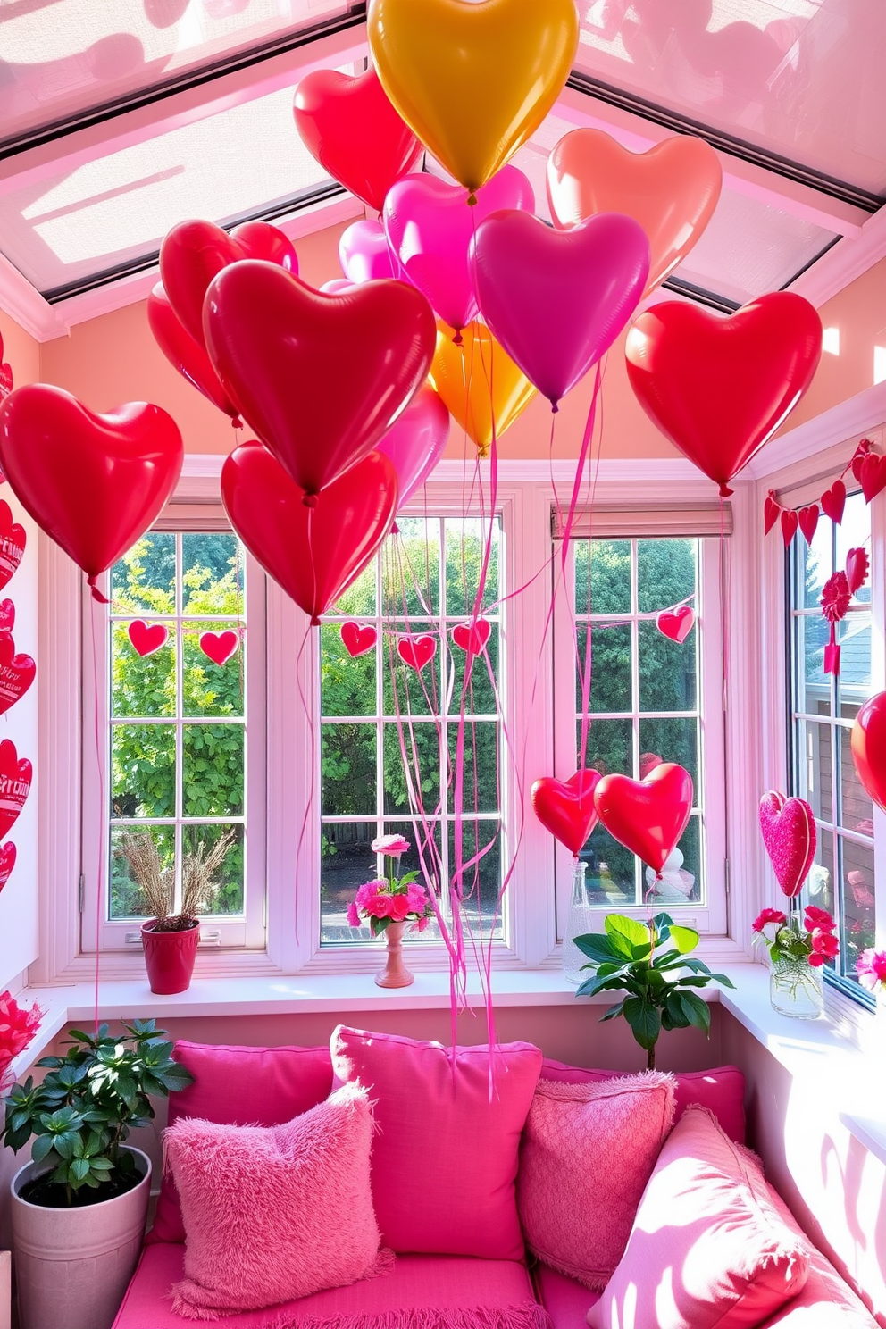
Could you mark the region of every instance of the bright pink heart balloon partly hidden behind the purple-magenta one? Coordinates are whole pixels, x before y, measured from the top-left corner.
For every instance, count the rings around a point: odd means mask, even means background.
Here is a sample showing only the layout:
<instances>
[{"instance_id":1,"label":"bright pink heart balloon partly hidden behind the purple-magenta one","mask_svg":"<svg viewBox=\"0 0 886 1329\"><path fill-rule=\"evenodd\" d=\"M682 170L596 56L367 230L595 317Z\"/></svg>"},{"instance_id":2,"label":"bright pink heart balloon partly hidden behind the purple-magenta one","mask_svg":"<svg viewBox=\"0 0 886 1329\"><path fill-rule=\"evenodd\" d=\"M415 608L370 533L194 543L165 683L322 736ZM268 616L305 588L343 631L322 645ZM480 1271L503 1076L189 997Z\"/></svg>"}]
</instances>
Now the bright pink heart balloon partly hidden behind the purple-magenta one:
<instances>
[{"instance_id":1,"label":"bright pink heart balloon partly hidden behind the purple-magenta one","mask_svg":"<svg viewBox=\"0 0 886 1329\"><path fill-rule=\"evenodd\" d=\"M480 222L502 207L535 207L533 186L515 166L502 166L478 189L474 207L461 185L436 175L404 175L388 190L383 218L395 275L417 286L449 327L461 330L477 318L468 249Z\"/></svg>"}]
</instances>

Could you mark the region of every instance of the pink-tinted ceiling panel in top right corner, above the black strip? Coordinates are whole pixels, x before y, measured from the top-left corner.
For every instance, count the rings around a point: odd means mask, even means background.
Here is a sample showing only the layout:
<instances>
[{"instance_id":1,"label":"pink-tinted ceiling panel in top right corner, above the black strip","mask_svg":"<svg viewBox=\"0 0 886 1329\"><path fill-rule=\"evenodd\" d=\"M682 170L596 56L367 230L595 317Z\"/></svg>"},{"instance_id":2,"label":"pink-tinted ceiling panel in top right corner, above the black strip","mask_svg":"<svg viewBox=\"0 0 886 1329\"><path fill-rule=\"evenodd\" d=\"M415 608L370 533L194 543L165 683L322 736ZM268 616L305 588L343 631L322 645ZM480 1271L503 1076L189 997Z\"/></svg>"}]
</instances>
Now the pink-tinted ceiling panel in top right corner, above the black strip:
<instances>
[{"instance_id":1,"label":"pink-tinted ceiling panel in top right corner, above the black strip","mask_svg":"<svg viewBox=\"0 0 886 1329\"><path fill-rule=\"evenodd\" d=\"M886 193L885 0L584 0L576 66Z\"/></svg>"}]
</instances>

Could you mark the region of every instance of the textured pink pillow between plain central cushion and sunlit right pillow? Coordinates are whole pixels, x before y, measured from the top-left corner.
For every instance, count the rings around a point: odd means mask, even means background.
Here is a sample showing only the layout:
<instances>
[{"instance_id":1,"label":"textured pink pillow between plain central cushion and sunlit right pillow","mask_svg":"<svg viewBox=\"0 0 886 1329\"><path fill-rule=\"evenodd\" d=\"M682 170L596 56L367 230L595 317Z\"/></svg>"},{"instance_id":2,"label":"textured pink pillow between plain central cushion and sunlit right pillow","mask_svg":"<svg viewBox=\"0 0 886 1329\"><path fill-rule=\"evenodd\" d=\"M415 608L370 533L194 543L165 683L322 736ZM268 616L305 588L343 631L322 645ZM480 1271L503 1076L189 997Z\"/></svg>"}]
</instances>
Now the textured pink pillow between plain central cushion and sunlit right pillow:
<instances>
[{"instance_id":1,"label":"textured pink pillow between plain central cushion and sunlit right pillow","mask_svg":"<svg viewBox=\"0 0 886 1329\"><path fill-rule=\"evenodd\" d=\"M517 1208L533 1255L586 1288L604 1288L672 1120L672 1075L541 1080L517 1175Z\"/></svg>"}]
</instances>

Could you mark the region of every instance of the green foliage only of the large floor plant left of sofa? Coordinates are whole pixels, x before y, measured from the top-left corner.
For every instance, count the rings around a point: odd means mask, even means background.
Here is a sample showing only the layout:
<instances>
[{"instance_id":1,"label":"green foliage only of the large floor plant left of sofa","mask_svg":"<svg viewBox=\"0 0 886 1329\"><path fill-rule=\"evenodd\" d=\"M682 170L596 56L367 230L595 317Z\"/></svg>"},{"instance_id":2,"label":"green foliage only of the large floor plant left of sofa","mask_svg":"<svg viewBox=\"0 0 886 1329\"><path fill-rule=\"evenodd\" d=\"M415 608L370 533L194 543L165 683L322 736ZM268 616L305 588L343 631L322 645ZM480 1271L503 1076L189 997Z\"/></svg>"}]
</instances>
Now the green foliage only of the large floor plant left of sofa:
<instances>
[{"instance_id":1,"label":"green foliage only of the large floor plant left of sofa","mask_svg":"<svg viewBox=\"0 0 886 1329\"><path fill-rule=\"evenodd\" d=\"M151 1098L187 1088L193 1075L173 1059L155 1021L135 1019L124 1030L113 1035L100 1025L93 1038L72 1029L65 1057L37 1062L48 1069L41 1083L28 1076L9 1091L0 1139L17 1154L35 1136L31 1158L46 1164L21 1192L31 1204L96 1204L141 1180L121 1144L155 1115Z\"/></svg>"}]
</instances>

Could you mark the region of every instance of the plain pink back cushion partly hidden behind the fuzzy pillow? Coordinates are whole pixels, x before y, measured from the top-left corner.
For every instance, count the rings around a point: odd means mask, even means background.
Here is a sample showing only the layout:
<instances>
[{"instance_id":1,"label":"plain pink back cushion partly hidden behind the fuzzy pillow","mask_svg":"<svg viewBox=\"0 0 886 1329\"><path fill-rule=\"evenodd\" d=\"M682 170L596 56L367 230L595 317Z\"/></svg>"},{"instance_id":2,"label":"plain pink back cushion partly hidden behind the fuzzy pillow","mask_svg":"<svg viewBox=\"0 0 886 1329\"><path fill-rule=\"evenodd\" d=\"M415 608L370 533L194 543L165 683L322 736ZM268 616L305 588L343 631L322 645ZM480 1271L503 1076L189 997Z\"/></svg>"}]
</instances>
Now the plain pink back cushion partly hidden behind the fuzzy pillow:
<instances>
[{"instance_id":1,"label":"plain pink back cushion partly hidden behind the fuzzy pillow","mask_svg":"<svg viewBox=\"0 0 886 1329\"><path fill-rule=\"evenodd\" d=\"M169 1124L199 1116L226 1126L282 1126L329 1096L328 1047L227 1047L175 1043L175 1061L194 1083L169 1096ZM185 1227L171 1176L165 1176L149 1241L183 1241Z\"/></svg>"}]
</instances>

